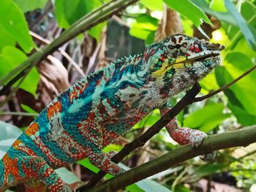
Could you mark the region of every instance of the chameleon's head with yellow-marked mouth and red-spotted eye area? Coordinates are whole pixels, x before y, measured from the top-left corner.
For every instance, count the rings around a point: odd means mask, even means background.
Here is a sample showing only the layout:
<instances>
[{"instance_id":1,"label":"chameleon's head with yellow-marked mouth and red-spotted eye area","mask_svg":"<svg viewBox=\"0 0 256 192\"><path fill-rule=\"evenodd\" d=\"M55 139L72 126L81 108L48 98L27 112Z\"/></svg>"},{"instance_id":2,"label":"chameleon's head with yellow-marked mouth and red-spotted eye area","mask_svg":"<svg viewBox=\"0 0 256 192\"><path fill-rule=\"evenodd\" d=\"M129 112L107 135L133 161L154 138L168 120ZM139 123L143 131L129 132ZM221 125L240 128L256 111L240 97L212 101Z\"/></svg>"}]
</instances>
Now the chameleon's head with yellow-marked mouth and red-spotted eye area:
<instances>
[{"instance_id":1,"label":"chameleon's head with yellow-marked mouth and red-spotted eye area","mask_svg":"<svg viewBox=\"0 0 256 192\"><path fill-rule=\"evenodd\" d=\"M219 51L224 46L203 39L176 34L144 52L150 79L159 84L166 96L189 88L220 64Z\"/></svg>"}]
</instances>

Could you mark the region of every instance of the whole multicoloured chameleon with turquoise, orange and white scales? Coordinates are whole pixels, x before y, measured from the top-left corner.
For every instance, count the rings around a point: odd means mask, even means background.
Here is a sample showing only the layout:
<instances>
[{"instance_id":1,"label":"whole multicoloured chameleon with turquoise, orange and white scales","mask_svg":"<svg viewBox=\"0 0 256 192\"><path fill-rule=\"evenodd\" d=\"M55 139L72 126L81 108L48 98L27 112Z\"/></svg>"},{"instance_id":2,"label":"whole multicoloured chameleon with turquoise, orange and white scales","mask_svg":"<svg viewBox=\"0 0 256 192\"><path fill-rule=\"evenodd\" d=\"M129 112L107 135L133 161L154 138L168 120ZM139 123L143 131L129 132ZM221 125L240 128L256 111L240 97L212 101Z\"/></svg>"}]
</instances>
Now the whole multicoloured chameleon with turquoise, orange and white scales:
<instances>
[{"instance_id":1,"label":"whole multicoloured chameleon with turquoise, orange and white scales","mask_svg":"<svg viewBox=\"0 0 256 192\"><path fill-rule=\"evenodd\" d=\"M175 34L142 54L119 58L56 96L0 161L0 191L24 183L27 191L74 191L55 169L89 158L113 175L124 172L102 149L154 109L164 115L171 96L185 91L221 63L224 46ZM207 135L165 126L180 145L197 147ZM214 155L209 155L212 157ZM206 156L207 157L207 156Z\"/></svg>"}]
</instances>

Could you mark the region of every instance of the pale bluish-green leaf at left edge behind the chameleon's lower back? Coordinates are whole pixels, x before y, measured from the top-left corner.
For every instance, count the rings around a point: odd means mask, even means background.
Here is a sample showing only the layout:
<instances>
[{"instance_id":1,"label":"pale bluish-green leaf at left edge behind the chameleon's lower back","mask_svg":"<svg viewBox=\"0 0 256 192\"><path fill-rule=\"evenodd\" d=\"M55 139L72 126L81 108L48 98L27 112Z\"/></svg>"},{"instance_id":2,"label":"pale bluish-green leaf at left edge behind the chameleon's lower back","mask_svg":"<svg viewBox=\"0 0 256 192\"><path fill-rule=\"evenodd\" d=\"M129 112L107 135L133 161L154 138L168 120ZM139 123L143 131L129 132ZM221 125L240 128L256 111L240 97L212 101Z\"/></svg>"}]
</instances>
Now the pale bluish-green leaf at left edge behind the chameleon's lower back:
<instances>
[{"instance_id":1,"label":"pale bluish-green leaf at left edge behind the chameleon's lower back","mask_svg":"<svg viewBox=\"0 0 256 192\"><path fill-rule=\"evenodd\" d=\"M22 134L22 131L10 123L0 120L0 159L7 152L13 142Z\"/></svg>"}]
</instances>

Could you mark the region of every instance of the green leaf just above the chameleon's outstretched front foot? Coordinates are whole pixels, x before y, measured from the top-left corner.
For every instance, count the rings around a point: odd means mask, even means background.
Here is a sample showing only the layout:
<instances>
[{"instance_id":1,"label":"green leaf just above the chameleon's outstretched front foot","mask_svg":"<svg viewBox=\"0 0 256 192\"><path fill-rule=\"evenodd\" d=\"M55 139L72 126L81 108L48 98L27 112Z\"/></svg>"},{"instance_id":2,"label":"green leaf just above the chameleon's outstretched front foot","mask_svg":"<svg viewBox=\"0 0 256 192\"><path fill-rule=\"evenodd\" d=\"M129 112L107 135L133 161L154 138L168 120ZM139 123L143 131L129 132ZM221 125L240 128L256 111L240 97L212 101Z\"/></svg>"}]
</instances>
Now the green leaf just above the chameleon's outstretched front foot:
<instances>
[{"instance_id":1,"label":"green leaf just above the chameleon's outstretched front foot","mask_svg":"<svg viewBox=\"0 0 256 192\"><path fill-rule=\"evenodd\" d=\"M223 114L223 110L223 104L206 105L202 109L189 114L184 120L184 126L199 128L200 131L210 131L229 117L228 114Z\"/></svg>"}]
</instances>

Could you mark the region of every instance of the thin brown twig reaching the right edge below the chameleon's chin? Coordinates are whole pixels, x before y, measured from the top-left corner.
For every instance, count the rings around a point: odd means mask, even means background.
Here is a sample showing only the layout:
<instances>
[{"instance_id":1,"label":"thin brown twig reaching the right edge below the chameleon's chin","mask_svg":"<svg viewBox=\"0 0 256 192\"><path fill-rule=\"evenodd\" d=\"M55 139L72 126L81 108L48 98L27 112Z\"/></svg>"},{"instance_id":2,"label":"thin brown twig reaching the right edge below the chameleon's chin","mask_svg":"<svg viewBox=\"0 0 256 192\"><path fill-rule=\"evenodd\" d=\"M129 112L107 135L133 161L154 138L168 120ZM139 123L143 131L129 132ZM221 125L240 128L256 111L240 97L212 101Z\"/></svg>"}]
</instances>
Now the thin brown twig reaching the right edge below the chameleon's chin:
<instances>
[{"instance_id":1,"label":"thin brown twig reaching the right edge below the chameleon's chin","mask_svg":"<svg viewBox=\"0 0 256 192\"><path fill-rule=\"evenodd\" d=\"M238 82L238 80L241 80L243 77L245 77L247 74L249 74L250 72L252 72L253 70L256 69L256 65L252 66L251 69L247 70L246 72L244 72L244 74L241 74L239 77L237 77L235 80L233 80L232 82L227 83L227 85L224 85L222 88L217 89L216 91L212 92L212 93L208 93L206 96L200 96L200 97L196 97L194 99L194 102L198 102L198 101L203 101L204 99L208 99L211 96L216 95L217 93L224 91L225 89L229 88L231 85L233 85L235 82Z\"/></svg>"}]
</instances>

